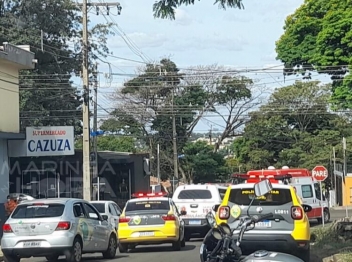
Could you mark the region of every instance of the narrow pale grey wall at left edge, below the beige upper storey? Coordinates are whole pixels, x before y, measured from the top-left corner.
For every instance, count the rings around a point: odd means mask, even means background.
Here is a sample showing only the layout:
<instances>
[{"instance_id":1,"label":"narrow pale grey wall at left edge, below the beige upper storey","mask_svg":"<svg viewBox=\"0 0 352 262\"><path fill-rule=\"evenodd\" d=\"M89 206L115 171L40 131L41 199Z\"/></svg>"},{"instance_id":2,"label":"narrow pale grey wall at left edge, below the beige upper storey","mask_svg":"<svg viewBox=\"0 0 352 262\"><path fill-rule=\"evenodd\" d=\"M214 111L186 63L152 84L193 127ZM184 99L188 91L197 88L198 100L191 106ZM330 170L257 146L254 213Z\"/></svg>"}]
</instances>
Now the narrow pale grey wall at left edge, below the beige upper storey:
<instances>
[{"instance_id":1,"label":"narrow pale grey wall at left edge, below the beige upper storey","mask_svg":"<svg viewBox=\"0 0 352 262\"><path fill-rule=\"evenodd\" d=\"M7 140L0 139L0 205L5 203L9 194L9 161Z\"/></svg>"}]
</instances>

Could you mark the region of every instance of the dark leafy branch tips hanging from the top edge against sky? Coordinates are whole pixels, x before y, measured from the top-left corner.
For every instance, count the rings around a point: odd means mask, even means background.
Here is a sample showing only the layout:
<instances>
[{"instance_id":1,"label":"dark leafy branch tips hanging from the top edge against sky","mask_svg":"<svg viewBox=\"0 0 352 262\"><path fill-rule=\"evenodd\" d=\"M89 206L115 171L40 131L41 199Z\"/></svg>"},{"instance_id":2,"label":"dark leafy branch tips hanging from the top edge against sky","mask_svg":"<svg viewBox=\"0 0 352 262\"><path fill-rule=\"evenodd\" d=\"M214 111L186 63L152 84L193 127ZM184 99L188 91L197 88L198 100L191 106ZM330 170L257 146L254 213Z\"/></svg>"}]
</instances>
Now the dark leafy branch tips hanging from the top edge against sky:
<instances>
[{"instance_id":1,"label":"dark leafy branch tips hanging from the top edge against sky","mask_svg":"<svg viewBox=\"0 0 352 262\"><path fill-rule=\"evenodd\" d=\"M154 17L175 19L175 11L183 5L193 5L194 0L158 0L153 5ZM214 4L218 4L219 8L226 9L238 8L243 9L242 0L215 0Z\"/></svg>"}]
</instances>

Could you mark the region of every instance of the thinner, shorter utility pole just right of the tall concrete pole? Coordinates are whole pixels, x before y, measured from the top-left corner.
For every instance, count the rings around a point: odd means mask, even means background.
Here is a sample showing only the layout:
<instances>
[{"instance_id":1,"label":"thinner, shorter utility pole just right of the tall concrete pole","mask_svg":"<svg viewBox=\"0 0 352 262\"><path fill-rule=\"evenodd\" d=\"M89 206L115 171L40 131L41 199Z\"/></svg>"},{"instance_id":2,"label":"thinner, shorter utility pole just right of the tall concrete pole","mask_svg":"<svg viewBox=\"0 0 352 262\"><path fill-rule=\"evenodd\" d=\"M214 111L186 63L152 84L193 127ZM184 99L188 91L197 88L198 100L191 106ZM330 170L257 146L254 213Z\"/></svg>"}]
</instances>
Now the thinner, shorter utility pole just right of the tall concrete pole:
<instances>
[{"instance_id":1,"label":"thinner, shorter utility pole just right of the tall concrete pole","mask_svg":"<svg viewBox=\"0 0 352 262\"><path fill-rule=\"evenodd\" d=\"M98 63L95 64L94 70L94 97L93 97L93 152L94 152L94 165L93 165L93 179L97 178L97 200L100 200L100 179L98 176ZM96 199L94 194L93 199Z\"/></svg>"}]
</instances>

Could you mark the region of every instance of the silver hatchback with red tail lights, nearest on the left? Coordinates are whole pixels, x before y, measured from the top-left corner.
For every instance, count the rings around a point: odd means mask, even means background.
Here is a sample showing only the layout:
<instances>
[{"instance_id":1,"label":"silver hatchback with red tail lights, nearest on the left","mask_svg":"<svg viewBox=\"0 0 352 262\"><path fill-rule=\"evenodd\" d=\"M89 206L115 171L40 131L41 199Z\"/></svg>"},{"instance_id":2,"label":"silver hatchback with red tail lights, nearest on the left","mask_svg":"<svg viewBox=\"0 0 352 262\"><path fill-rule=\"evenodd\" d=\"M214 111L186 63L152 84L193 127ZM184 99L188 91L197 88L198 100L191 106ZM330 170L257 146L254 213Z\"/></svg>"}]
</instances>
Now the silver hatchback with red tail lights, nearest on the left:
<instances>
[{"instance_id":1,"label":"silver hatchback with red tail lights, nearest on the left","mask_svg":"<svg viewBox=\"0 0 352 262\"><path fill-rule=\"evenodd\" d=\"M55 198L19 204L3 225L1 248L7 262L46 257L56 261L65 255L80 262L83 253L102 252L114 258L116 230L94 206L82 199Z\"/></svg>"}]
</instances>

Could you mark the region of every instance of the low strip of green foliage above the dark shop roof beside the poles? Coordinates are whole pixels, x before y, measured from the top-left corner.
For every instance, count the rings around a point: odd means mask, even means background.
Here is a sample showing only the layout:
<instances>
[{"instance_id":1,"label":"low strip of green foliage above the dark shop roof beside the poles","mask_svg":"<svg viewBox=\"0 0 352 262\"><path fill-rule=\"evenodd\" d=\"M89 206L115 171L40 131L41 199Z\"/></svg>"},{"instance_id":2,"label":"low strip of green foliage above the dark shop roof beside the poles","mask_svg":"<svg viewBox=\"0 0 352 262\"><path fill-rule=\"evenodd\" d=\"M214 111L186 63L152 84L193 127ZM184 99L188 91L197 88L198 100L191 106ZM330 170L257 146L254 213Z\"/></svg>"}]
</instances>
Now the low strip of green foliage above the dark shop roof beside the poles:
<instances>
[{"instance_id":1,"label":"low strip of green foliage above the dark shop roof beside the poles","mask_svg":"<svg viewBox=\"0 0 352 262\"><path fill-rule=\"evenodd\" d=\"M78 139L75 143L75 148L82 149L82 139ZM114 151L114 152L130 152L135 153L135 139L130 136L98 136L99 151Z\"/></svg>"}]
</instances>

